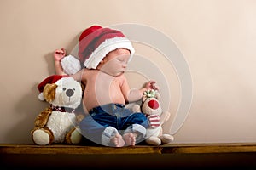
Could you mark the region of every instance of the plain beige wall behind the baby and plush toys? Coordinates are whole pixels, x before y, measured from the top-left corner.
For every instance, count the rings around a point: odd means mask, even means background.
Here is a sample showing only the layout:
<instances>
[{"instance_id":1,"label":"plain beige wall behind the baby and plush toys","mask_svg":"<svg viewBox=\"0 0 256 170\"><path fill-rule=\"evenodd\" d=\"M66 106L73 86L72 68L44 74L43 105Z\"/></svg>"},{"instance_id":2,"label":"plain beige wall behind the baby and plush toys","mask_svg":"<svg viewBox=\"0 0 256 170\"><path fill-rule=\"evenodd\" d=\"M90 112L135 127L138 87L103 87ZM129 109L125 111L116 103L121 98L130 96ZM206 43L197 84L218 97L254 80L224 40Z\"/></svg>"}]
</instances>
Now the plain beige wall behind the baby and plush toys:
<instances>
[{"instance_id":1,"label":"plain beige wall behind the baby and plush toys","mask_svg":"<svg viewBox=\"0 0 256 170\"><path fill-rule=\"evenodd\" d=\"M193 99L175 143L255 142L255 16L254 0L1 0L0 143L32 143L33 120L47 105L38 100L37 85L55 73L55 48L69 53L87 26L122 23L164 32L188 62ZM137 52L157 56L139 46ZM172 103L163 101L171 105L168 132L179 85L172 66L161 66L172 94Z\"/></svg>"}]
</instances>

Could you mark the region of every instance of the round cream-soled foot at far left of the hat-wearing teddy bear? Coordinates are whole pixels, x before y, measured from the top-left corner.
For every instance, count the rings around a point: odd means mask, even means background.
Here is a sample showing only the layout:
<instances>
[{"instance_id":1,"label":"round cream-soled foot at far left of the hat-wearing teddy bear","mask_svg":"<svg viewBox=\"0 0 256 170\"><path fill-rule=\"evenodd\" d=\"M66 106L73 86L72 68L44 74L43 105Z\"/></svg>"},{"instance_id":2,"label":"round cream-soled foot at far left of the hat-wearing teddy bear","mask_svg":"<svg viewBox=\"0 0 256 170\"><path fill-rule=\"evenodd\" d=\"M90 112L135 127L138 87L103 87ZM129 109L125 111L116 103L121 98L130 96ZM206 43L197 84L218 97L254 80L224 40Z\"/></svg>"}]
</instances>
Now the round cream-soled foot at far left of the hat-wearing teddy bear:
<instances>
[{"instance_id":1,"label":"round cream-soled foot at far left of the hat-wearing teddy bear","mask_svg":"<svg viewBox=\"0 0 256 170\"><path fill-rule=\"evenodd\" d=\"M52 134L45 129L38 129L32 133L32 140L35 144L46 145L52 141Z\"/></svg>"}]
</instances>

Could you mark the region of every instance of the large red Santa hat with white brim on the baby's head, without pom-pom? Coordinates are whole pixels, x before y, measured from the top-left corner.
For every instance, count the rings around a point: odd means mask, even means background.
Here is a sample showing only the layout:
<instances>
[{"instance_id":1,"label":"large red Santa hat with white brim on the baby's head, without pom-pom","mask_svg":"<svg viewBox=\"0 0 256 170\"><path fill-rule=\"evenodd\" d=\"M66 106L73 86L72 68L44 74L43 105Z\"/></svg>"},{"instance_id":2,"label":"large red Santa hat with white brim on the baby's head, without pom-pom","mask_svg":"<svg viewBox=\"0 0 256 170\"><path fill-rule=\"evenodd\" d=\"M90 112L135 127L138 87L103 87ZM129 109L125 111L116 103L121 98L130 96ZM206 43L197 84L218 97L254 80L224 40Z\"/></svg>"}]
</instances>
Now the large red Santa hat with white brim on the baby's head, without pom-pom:
<instances>
[{"instance_id":1,"label":"large red Santa hat with white brim on the baby's head, without pom-pom","mask_svg":"<svg viewBox=\"0 0 256 170\"><path fill-rule=\"evenodd\" d=\"M130 50L131 57L135 52L131 41L118 30L90 26L79 37L79 59L88 69L96 69L102 59L117 48Z\"/></svg>"}]
</instances>

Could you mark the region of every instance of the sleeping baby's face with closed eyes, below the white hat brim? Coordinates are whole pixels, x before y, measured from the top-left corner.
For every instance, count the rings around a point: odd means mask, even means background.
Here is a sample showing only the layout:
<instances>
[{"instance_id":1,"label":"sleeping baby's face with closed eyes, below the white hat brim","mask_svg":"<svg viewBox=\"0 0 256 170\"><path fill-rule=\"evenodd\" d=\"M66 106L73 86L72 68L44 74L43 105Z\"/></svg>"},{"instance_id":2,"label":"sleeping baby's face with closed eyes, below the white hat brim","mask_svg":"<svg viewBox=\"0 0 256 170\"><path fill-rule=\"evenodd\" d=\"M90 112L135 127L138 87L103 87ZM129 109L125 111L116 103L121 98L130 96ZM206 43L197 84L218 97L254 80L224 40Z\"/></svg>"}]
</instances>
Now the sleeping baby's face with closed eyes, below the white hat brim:
<instances>
[{"instance_id":1,"label":"sleeping baby's face with closed eyes, below the white hat brim","mask_svg":"<svg viewBox=\"0 0 256 170\"><path fill-rule=\"evenodd\" d=\"M124 48L118 48L108 53L99 66L101 71L111 76L119 76L126 71L127 63L130 59L130 51Z\"/></svg>"}]
</instances>

